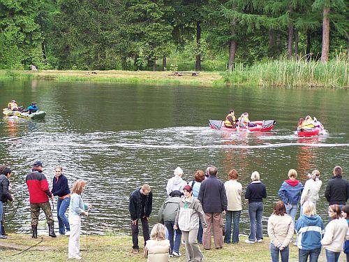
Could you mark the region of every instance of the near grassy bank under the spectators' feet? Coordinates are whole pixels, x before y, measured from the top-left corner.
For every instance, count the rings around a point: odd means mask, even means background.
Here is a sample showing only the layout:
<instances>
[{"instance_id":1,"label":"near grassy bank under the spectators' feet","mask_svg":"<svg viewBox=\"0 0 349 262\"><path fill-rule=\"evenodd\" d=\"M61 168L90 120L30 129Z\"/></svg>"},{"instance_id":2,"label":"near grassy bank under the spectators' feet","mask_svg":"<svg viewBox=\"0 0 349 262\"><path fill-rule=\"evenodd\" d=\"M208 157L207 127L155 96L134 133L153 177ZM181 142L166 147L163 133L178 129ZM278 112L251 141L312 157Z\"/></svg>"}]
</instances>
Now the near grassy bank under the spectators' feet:
<instances>
[{"instance_id":1,"label":"near grassy bank under the spectators' feet","mask_svg":"<svg viewBox=\"0 0 349 262\"><path fill-rule=\"evenodd\" d=\"M7 240L0 240L0 249L2 243L8 243L12 245L19 245L24 247L35 245L38 240L32 240L30 235L15 235L11 234ZM211 250L203 250L205 261L270 261L269 254L269 242L265 238L265 242L255 243L253 245L246 244L245 238L241 238L239 244L230 244L223 247L223 249L214 249L212 242ZM146 261L142 257L142 249L140 254L131 254L132 240L131 236L119 235L119 236L96 236L89 235L88 237L88 249L86 248L86 236L82 235L81 239L81 253L85 261ZM142 245L142 239L140 238L140 245ZM41 251L29 249L20 255L15 255L20 250L3 249L1 250L1 261L66 261L68 257L68 237L59 236L57 238L50 238L43 236L43 242L37 247L40 247ZM181 257L172 258L170 262L184 262L186 261L185 248L181 245L180 252L183 254ZM15 255L15 256L13 256ZM290 245L290 261L297 261L298 249L297 247ZM345 255L341 254L341 261L345 259ZM322 250L319 261L325 261L325 251ZM343 260L344 261L344 260Z\"/></svg>"}]
</instances>

